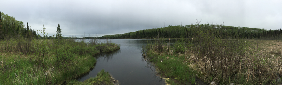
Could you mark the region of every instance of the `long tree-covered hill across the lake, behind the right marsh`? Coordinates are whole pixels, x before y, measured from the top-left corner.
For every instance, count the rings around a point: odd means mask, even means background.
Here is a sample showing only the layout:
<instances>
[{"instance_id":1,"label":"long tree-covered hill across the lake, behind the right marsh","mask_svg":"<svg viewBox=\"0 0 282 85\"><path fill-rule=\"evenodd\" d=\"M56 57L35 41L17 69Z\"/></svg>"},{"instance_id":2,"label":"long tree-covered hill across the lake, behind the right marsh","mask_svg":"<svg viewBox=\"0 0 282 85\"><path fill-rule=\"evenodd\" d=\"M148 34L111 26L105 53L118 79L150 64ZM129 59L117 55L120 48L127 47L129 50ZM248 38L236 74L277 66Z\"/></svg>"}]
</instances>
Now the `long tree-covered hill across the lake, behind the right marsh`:
<instances>
[{"instance_id":1,"label":"long tree-covered hill across the lake, behind the right marsh","mask_svg":"<svg viewBox=\"0 0 282 85\"><path fill-rule=\"evenodd\" d=\"M142 38L156 38L157 36L161 38L193 38L193 30L191 27L196 25L177 25L168 26L165 28L154 28L154 29L143 29L136 32L129 32L125 34L117 35L104 35L98 37L99 39L142 39ZM248 27L234 27L234 26L224 26L215 24L200 24L201 28L207 28L210 26L216 26L213 30L218 32L218 36L222 39L226 38L242 38L242 39L267 39L267 40L278 40L282 39L282 30L266 30L259 28L248 28Z\"/></svg>"}]
</instances>

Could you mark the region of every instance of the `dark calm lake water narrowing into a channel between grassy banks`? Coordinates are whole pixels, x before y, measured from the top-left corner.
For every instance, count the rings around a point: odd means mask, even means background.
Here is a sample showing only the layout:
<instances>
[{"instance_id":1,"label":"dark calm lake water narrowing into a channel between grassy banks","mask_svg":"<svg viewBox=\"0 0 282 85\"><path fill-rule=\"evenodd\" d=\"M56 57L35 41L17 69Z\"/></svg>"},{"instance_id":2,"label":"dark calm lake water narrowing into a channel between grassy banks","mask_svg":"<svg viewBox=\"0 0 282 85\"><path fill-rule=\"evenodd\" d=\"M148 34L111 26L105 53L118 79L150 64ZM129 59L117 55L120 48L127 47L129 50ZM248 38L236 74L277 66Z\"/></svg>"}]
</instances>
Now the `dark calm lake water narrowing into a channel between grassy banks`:
<instances>
[{"instance_id":1,"label":"dark calm lake water narrowing into a channel between grassy banks","mask_svg":"<svg viewBox=\"0 0 282 85\"><path fill-rule=\"evenodd\" d=\"M104 42L104 40L100 40ZM156 69L150 62L142 57L141 47L146 45L148 39L114 39L113 43L121 44L120 49L96 55L95 67L86 75L78 78L85 81L90 77L96 77L102 69L109 72L119 81L119 85L164 85L165 80L156 76ZM170 40L172 42L172 40Z\"/></svg>"}]
</instances>

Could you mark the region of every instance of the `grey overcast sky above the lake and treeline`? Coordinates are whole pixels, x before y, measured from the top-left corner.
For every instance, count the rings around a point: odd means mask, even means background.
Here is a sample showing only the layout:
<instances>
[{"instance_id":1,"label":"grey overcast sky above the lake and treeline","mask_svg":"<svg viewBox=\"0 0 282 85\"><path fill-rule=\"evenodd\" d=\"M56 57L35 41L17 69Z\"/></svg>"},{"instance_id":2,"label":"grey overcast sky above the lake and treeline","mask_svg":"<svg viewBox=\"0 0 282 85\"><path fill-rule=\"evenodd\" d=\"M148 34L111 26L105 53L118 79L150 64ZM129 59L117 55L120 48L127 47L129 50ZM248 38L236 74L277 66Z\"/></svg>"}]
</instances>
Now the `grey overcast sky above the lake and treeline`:
<instances>
[{"instance_id":1,"label":"grey overcast sky above the lake and treeline","mask_svg":"<svg viewBox=\"0 0 282 85\"><path fill-rule=\"evenodd\" d=\"M214 22L226 26L282 28L281 0L2 0L0 11L55 35L123 34L169 25ZM164 24L165 22L165 24Z\"/></svg>"}]
</instances>

